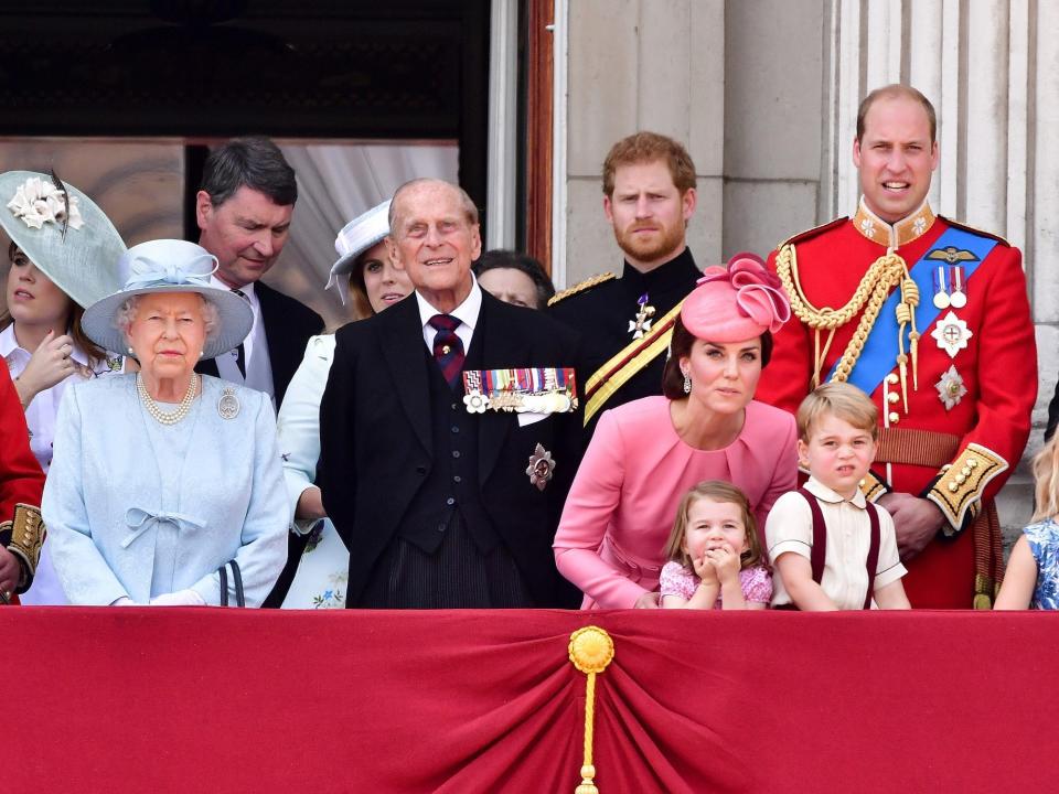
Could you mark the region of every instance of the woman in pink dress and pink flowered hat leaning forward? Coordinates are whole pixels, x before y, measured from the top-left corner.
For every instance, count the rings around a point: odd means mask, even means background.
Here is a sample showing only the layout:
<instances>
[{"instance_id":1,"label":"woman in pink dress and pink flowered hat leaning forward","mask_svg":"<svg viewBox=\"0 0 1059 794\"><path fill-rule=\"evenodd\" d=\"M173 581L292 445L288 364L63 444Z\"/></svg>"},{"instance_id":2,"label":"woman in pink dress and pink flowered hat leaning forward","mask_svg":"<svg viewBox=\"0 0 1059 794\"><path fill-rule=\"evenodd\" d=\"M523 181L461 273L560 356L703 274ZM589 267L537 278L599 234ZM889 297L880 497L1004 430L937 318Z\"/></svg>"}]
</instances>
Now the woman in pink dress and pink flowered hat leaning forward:
<instances>
[{"instance_id":1,"label":"woman in pink dress and pink flowered hat leaning forward","mask_svg":"<svg viewBox=\"0 0 1059 794\"><path fill-rule=\"evenodd\" d=\"M582 609L659 605L663 547L681 497L726 480L750 501L759 527L798 486L794 418L753 391L790 318L779 279L738 254L705 270L673 328L661 397L602 415L555 536L559 571Z\"/></svg>"}]
</instances>

